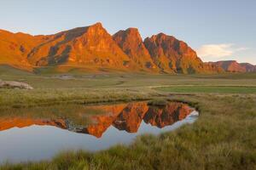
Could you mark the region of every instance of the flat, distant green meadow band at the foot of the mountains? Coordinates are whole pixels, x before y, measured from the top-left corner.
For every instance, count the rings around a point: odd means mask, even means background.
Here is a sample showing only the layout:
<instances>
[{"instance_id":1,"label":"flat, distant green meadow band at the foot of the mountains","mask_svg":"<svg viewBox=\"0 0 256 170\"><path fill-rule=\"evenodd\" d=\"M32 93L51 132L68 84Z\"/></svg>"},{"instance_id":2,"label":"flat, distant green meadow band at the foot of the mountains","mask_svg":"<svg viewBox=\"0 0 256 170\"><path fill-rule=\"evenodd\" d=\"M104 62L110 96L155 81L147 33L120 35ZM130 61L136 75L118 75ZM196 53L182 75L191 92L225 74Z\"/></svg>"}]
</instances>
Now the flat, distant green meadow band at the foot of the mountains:
<instances>
[{"instance_id":1,"label":"flat, distant green meadow band at the foot of the mountains","mask_svg":"<svg viewBox=\"0 0 256 170\"><path fill-rule=\"evenodd\" d=\"M66 76L66 77L65 77ZM68 76L68 77L67 77ZM256 73L217 75L150 75L146 73L32 74L0 66L0 79L27 82L33 88L138 88L170 85L256 87Z\"/></svg>"}]
</instances>

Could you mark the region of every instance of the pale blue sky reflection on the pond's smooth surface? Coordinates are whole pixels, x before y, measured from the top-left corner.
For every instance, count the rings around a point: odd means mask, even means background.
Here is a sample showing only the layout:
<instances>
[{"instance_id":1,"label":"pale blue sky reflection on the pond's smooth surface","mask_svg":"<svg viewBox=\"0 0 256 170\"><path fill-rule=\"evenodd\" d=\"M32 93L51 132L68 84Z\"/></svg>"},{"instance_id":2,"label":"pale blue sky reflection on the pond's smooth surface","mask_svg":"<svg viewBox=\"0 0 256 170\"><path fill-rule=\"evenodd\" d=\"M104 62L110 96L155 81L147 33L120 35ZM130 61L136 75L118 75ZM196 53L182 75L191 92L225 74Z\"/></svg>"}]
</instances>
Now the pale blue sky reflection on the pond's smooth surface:
<instances>
[{"instance_id":1,"label":"pale blue sky reflection on the pond's smooth surface","mask_svg":"<svg viewBox=\"0 0 256 170\"><path fill-rule=\"evenodd\" d=\"M55 156L61 150L102 150L114 144L129 144L137 135L143 133L159 134L171 131L184 123L195 122L193 111L189 116L172 126L152 127L142 122L137 133L119 131L111 126L102 134L102 138L73 133L58 127L31 126L0 132L0 162L3 161L39 161Z\"/></svg>"}]
</instances>

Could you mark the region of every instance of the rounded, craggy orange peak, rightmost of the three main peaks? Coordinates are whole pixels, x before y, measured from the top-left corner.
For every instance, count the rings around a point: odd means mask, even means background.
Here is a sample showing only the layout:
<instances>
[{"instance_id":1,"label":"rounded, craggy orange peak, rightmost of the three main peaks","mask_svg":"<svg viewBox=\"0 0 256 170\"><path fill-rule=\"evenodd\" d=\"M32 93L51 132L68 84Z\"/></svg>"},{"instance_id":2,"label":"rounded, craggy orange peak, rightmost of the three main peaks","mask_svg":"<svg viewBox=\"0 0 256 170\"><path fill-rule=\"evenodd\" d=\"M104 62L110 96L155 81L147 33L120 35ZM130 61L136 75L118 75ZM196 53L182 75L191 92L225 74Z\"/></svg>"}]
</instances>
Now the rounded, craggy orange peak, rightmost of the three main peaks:
<instances>
[{"instance_id":1,"label":"rounded, craggy orange peak, rightmost of the three main peaks","mask_svg":"<svg viewBox=\"0 0 256 170\"><path fill-rule=\"evenodd\" d=\"M147 37L145 47L163 72L195 73L203 70L203 63L187 43L164 33Z\"/></svg>"}]
</instances>

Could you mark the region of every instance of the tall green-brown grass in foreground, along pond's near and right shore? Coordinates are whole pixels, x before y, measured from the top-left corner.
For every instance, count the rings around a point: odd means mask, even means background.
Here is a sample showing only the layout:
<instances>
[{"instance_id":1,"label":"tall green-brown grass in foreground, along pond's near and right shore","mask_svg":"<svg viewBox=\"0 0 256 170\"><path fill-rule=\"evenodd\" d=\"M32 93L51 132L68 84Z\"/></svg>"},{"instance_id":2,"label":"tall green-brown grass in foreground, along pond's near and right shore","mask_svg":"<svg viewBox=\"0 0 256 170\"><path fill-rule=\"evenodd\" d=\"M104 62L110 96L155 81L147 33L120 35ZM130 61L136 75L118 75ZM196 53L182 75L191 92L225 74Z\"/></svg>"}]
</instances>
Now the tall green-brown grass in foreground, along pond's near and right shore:
<instances>
[{"instance_id":1,"label":"tall green-brown grass in foreground, along pond's near and right shore","mask_svg":"<svg viewBox=\"0 0 256 170\"><path fill-rule=\"evenodd\" d=\"M69 151L52 161L1 169L255 169L256 95L172 95L198 108L192 125L96 153Z\"/></svg>"}]
</instances>

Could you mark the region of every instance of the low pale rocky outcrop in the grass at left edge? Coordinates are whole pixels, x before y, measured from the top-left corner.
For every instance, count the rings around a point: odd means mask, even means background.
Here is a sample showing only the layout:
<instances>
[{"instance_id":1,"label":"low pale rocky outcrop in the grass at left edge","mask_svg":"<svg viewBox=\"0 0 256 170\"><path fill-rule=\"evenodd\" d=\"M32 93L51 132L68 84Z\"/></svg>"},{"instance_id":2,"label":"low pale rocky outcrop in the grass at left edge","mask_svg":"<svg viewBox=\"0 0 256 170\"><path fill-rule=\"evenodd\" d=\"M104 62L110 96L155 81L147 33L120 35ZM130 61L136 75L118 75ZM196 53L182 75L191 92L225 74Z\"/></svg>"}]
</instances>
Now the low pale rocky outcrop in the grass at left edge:
<instances>
[{"instance_id":1,"label":"low pale rocky outcrop in the grass at left edge","mask_svg":"<svg viewBox=\"0 0 256 170\"><path fill-rule=\"evenodd\" d=\"M2 81L0 79L0 88L20 88L20 89L33 89L32 86L25 82L15 82L15 81Z\"/></svg>"}]
</instances>

